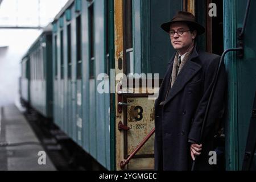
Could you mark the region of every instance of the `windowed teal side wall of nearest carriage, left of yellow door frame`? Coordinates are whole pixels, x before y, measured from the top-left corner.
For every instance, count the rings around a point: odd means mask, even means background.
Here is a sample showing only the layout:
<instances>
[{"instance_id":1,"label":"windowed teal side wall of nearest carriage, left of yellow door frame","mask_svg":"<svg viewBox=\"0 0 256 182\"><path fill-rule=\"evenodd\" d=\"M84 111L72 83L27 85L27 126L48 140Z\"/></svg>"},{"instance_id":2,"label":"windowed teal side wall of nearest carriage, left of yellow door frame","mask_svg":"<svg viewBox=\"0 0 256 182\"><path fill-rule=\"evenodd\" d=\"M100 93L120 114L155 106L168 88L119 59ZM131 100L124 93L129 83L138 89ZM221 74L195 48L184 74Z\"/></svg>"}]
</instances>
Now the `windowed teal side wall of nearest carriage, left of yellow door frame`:
<instances>
[{"instance_id":1,"label":"windowed teal side wall of nearest carriage, left of yellow door frame","mask_svg":"<svg viewBox=\"0 0 256 182\"><path fill-rule=\"evenodd\" d=\"M110 96L97 93L97 75L105 72L108 55L105 5L105 1L68 1L55 17L54 121L102 166L111 169Z\"/></svg>"}]
</instances>

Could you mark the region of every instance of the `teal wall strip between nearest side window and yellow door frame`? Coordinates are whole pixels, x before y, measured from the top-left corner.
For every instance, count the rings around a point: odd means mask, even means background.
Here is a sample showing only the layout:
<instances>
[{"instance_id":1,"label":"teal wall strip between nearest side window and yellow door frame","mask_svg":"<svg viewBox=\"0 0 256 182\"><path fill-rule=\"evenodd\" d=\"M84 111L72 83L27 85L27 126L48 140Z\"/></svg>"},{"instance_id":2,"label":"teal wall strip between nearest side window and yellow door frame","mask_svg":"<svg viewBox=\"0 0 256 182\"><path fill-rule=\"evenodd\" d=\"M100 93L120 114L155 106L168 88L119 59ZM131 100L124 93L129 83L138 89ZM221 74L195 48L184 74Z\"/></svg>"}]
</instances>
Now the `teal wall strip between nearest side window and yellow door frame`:
<instances>
[{"instance_id":1,"label":"teal wall strip between nearest side window and yellow door frame","mask_svg":"<svg viewBox=\"0 0 256 182\"><path fill-rule=\"evenodd\" d=\"M106 64L106 27L102 26L104 24L105 19L105 6L104 1L94 1L94 17L95 17L95 50L97 50L95 54L95 73L96 78L101 73L105 72L105 64ZM96 23L98 22L98 23ZM101 41L99 41L101 40ZM106 97L109 98L108 94L101 94L97 91L97 85L100 84L102 80L97 80L95 85L96 92L96 108L94 110L95 113L90 113L96 115L96 134L97 134L97 161L102 164L102 166L107 167L107 159L110 159L110 155L107 154L107 148L110 147L109 139L110 133L106 130L106 127L109 127L109 117L105 117L108 114L109 108L109 100L106 100ZM107 101L105 103L105 101ZM108 133L105 133L105 132ZM108 166L109 167L109 166Z\"/></svg>"}]
</instances>

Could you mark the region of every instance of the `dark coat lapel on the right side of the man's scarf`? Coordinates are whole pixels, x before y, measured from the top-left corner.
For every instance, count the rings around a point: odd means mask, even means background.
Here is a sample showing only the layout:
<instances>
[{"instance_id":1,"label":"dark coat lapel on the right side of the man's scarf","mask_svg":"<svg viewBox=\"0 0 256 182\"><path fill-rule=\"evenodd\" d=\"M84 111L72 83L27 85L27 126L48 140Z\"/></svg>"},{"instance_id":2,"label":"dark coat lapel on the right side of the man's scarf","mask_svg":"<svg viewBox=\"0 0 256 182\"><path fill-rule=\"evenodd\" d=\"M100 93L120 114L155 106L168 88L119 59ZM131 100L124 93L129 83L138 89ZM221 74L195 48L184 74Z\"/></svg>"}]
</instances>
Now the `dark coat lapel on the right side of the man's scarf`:
<instances>
[{"instance_id":1,"label":"dark coat lapel on the right side of the man's scarf","mask_svg":"<svg viewBox=\"0 0 256 182\"><path fill-rule=\"evenodd\" d=\"M192 59L196 59L196 57L198 57L198 53L196 49L194 49L190 59L187 61L187 63L185 63L184 67L181 69L179 75L177 76L174 85L172 85L164 105L171 101L171 99L174 98L174 96L176 96L176 94L184 88L187 82L191 80L191 78L195 76L196 73L201 69L201 65L192 61Z\"/></svg>"}]
</instances>

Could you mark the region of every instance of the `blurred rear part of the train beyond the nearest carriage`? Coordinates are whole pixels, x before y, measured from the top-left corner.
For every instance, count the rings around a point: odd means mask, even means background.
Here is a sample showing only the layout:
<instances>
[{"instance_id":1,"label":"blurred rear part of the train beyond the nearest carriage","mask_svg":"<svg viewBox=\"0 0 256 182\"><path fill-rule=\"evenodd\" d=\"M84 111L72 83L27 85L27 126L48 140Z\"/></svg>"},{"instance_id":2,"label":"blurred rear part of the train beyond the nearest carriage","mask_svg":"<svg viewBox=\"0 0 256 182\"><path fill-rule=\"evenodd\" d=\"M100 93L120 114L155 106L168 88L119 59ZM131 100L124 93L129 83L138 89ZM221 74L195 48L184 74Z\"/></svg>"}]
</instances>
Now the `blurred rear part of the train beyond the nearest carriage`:
<instances>
[{"instance_id":1,"label":"blurred rear part of the train beyond the nearest carriage","mask_svg":"<svg viewBox=\"0 0 256 182\"><path fill-rule=\"evenodd\" d=\"M22 100L52 118L52 26L49 24L22 59ZM26 92L26 96L24 96Z\"/></svg>"}]
</instances>

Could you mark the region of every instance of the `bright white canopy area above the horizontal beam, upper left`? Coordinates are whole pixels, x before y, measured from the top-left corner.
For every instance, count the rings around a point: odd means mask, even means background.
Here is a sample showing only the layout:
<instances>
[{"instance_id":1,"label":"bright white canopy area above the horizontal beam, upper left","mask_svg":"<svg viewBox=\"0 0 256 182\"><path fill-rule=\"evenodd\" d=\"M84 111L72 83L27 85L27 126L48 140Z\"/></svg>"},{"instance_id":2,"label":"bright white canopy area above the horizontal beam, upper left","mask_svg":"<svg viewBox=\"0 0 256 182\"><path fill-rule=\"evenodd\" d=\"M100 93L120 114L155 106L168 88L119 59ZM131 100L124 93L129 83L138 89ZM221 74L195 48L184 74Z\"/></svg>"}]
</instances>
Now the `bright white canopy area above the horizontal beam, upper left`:
<instances>
[{"instance_id":1,"label":"bright white canopy area above the horizontal beam, upper left","mask_svg":"<svg viewBox=\"0 0 256 182\"><path fill-rule=\"evenodd\" d=\"M68 0L0 0L0 28L40 28L53 21Z\"/></svg>"}]
</instances>

